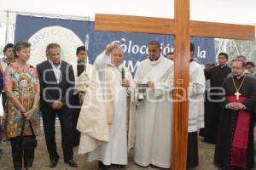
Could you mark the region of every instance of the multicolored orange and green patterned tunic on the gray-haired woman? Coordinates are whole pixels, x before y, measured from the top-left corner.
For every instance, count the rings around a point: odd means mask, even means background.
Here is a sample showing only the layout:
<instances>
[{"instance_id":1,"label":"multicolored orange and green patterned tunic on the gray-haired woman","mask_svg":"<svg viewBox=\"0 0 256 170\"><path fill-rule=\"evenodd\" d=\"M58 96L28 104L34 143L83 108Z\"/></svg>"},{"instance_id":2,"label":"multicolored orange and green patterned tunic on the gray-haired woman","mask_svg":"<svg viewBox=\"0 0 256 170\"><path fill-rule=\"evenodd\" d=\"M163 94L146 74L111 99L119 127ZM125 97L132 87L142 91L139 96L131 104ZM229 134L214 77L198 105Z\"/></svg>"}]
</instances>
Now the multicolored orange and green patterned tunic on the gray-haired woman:
<instances>
[{"instance_id":1,"label":"multicolored orange and green patterned tunic on the gray-haired woman","mask_svg":"<svg viewBox=\"0 0 256 170\"><path fill-rule=\"evenodd\" d=\"M38 82L38 71L36 68L19 67L9 65L3 73L4 85L11 87L17 99L25 107L26 111L32 109L35 94L40 89ZM3 136L6 139L20 136L23 119L20 110L8 98L6 109L3 113ZM38 107L39 108L39 107ZM34 112L32 118L32 127L36 135L40 133L40 111ZM24 136L32 135L29 123L26 121Z\"/></svg>"}]
</instances>

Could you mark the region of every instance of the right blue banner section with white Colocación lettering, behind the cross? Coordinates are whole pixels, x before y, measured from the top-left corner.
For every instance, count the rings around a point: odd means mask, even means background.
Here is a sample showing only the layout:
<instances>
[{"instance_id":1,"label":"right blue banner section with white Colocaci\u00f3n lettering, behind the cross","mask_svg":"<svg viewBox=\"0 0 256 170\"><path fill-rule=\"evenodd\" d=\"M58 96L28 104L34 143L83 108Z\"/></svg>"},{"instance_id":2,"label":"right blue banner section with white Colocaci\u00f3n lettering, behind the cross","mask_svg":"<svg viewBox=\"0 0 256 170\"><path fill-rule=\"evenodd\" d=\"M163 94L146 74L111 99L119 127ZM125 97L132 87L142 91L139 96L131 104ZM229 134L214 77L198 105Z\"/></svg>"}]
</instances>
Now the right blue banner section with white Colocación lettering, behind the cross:
<instances>
[{"instance_id":1,"label":"right blue banner section with white Colocaci\u00f3n lettering, behind the cross","mask_svg":"<svg viewBox=\"0 0 256 170\"><path fill-rule=\"evenodd\" d=\"M148 55L147 44L152 40L160 42L162 54L174 50L174 37L171 35L156 35L145 33L123 33L109 31L94 31L93 40L90 39L90 63L98 54L101 54L109 42L125 38L124 63L132 73L136 71L137 65ZM215 48L213 38L192 37L191 42L195 44L194 59L202 65L215 63Z\"/></svg>"}]
</instances>

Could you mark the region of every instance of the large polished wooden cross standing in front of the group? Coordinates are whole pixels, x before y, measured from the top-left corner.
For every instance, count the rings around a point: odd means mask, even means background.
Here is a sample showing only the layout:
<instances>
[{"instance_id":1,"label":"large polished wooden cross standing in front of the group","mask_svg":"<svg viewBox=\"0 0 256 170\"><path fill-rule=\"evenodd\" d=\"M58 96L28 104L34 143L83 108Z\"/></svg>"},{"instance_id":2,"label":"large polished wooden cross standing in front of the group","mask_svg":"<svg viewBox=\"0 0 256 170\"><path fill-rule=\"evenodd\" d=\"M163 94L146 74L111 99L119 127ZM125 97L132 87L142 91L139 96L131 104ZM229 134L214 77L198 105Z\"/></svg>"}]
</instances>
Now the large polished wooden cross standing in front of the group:
<instances>
[{"instance_id":1,"label":"large polished wooden cross standing in front of the group","mask_svg":"<svg viewBox=\"0 0 256 170\"><path fill-rule=\"evenodd\" d=\"M143 32L175 36L174 85L189 87L190 36L255 40L255 27L189 20L189 0L174 1L174 20L113 14L96 14L96 31ZM182 82L182 83L181 83ZM174 91L174 99L183 96ZM172 170L185 170L188 143L188 100L173 104ZM170 120L171 121L171 120ZM170 150L171 151L171 150Z\"/></svg>"}]
</instances>

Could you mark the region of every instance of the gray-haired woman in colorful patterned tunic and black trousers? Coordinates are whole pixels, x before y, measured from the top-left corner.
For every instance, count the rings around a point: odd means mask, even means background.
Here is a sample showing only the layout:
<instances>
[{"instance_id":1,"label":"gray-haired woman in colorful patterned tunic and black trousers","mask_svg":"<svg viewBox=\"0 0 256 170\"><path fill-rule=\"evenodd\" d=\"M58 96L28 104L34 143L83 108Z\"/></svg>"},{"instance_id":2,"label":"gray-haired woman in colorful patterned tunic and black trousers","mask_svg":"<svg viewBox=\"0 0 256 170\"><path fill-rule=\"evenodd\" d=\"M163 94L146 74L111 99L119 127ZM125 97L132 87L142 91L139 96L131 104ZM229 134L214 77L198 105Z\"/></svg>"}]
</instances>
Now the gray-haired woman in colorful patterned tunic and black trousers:
<instances>
[{"instance_id":1,"label":"gray-haired woman in colorful patterned tunic and black trousers","mask_svg":"<svg viewBox=\"0 0 256 170\"><path fill-rule=\"evenodd\" d=\"M3 73L4 90L8 96L7 107L3 115L3 135L10 140L15 170L24 167L32 169L35 136L40 131L38 100L40 86L38 71L27 64L30 58L31 44L26 41L16 42L14 46L15 63L9 64ZM32 145L25 147L25 138L32 138ZM30 140L31 141L31 140Z\"/></svg>"}]
</instances>

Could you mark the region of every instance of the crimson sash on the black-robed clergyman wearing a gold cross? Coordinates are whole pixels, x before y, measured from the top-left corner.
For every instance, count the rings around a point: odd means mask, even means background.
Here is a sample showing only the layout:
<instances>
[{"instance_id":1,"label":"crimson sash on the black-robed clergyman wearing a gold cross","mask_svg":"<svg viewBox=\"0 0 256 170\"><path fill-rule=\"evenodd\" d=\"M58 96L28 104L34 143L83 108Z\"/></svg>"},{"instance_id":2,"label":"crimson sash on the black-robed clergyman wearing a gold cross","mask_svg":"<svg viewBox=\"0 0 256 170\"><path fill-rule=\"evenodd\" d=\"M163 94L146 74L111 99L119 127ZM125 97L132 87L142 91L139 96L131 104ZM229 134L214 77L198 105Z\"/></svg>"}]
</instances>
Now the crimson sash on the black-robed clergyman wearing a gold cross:
<instances>
[{"instance_id":1,"label":"crimson sash on the black-robed clergyman wearing a gold cross","mask_svg":"<svg viewBox=\"0 0 256 170\"><path fill-rule=\"evenodd\" d=\"M247 98L236 96L227 97L230 103L242 103ZM242 109L238 112L236 130L231 146L231 165L236 167L246 167L246 151L248 147L249 126L251 115L246 110Z\"/></svg>"}]
</instances>

